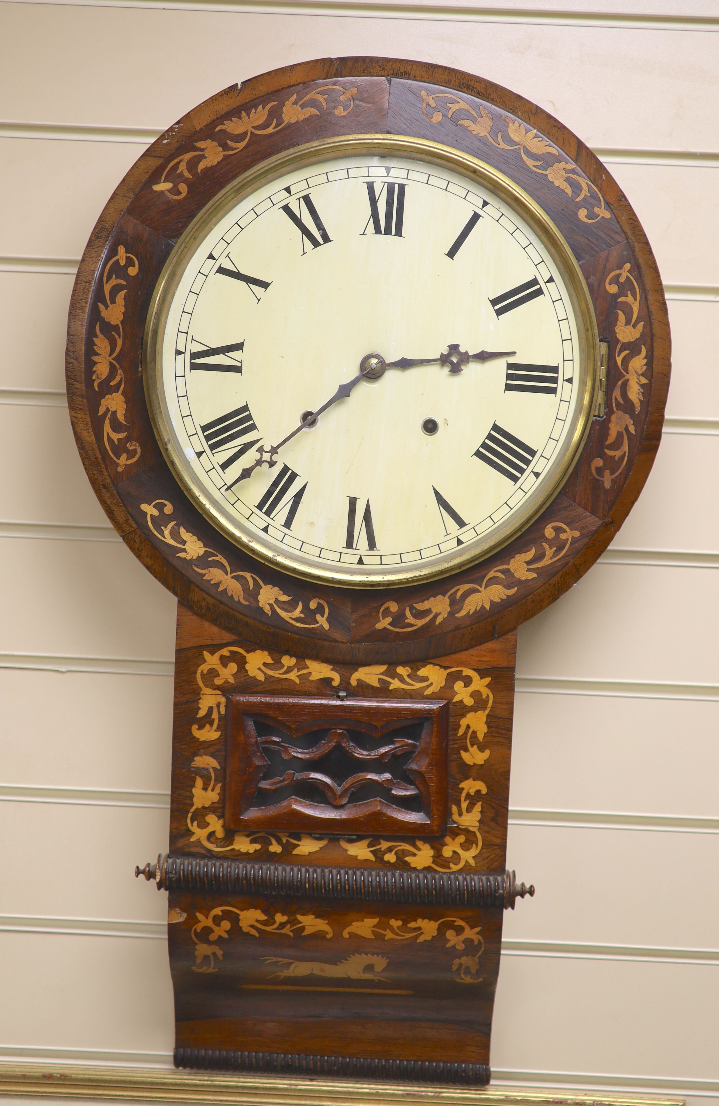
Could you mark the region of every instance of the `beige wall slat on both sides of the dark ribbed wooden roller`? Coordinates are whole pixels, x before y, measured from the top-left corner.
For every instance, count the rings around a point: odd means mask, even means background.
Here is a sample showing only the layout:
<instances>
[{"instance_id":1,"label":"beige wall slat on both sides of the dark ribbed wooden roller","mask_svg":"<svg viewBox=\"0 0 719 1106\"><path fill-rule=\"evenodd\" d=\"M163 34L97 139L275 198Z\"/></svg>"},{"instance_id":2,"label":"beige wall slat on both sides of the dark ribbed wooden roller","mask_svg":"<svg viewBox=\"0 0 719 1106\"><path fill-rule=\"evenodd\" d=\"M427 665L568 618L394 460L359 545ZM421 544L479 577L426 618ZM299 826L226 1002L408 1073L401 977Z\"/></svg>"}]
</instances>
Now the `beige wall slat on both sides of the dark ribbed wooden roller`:
<instances>
[{"instance_id":1,"label":"beige wall slat on both sides of the dark ribbed wooden roller","mask_svg":"<svg viewBox=\"0 0 719 1106\"><path fill-rule=\"evenodd\" d=\"M191 783L195 773L189 765L187 771ZM489 816L484 806L482 820ZM167 899L154 884L134 877L136 865L142 868L167 852L166 807L30 800L19 808L17 802L0 802L6 838L19 822L37 839L52 837L63 865L9 865L2 914L166 920ZM635 825L607 833L605 826L590 824L512 821L507 860L520 880L536 888L532 900L506 915L508 939L622 948L717 947L719 887L710 876L719 864L716 820L713 833L652 833ZM637 873L652 873L652 878L637 884ZM689 909L699 904L700 911ZM366 912L362 904L351 909L358 916Z\"/></svg>"}]
</instances>

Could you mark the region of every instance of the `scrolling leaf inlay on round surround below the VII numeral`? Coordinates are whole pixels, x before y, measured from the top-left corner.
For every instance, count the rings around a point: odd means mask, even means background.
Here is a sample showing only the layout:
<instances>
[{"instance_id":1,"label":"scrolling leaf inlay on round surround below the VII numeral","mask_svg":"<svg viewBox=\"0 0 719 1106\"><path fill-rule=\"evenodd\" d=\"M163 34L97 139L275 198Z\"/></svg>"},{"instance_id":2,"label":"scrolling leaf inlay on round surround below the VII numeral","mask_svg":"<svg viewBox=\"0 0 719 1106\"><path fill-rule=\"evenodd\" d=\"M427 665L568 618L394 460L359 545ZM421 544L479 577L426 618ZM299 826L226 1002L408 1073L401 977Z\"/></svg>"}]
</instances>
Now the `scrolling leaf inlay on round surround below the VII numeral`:
<instances>
[{"instance_id":1,"label":"scrolling leaf inlay on round surround below the VII numeral","mask_svg":"<svg viewBox=\"0 0 719 1106\"><path fill-rule=\"evenodd\" d=\"M168 503L166 499L156 499L152 503L140 503L140 510L147 517L147 525L150 532L155 538L159 538L161 542L165 542L166 545L174 545L180 550L181 552L175 555L185 561L197 561L200 557L207 557L208 561L206 564L192 565L195 572L198 572L202 580L218 587L220 592L227 592L230 598L235 599L236 603L241 603L243 606L248 606L250 601L244 598L244 589L241 582L244 581L249 592L253 592L254 584L257 584L258 594L257 596L253 594L252 599L265 615L271 617L272 612L275 612L284 622L290 623L291 626L299 626L302 629L317 629L319 627L330 629L327 623L330 607L324 599L310 601L310 611L314 612L314 622L309 622L306 615L303 613L304 606L302 601L298 603L294 609L288 611L284 604L294 603L291 595L285 595L282 588L275 587L272 584L263 584L260 577L256 576L253 572L232 572L229 562L220 553L204 545L199 538L185 530L176 519L173 519L167 526L160 526L161 533L157 531L153 524L153 519L159 518L158 505L161 507L164 514L171 514L175 510L173 504ZM174 531L175 526L178 528L177 532ZM210 567L212 562L216 562L221 567Z\"/></svg>"}]
</instances>

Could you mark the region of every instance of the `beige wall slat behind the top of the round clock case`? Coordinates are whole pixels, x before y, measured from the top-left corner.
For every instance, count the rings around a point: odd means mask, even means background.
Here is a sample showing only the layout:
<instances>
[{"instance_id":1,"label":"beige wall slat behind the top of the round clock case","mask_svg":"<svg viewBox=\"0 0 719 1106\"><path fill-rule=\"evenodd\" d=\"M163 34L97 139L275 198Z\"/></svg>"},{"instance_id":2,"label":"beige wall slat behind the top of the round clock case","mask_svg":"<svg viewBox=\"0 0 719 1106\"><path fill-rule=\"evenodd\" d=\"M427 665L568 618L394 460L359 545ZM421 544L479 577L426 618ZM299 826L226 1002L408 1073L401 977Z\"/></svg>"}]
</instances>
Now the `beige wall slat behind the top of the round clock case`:
<instances>
[{"instance_id":1,"label":"beige wall slat behind the top of the round clock case","mask_svg":"<svg viewBox=\"0 0 719 1106\"><path fill-rule=\"evenodd\" d=\"M691 14L717 18L711 6L697 12L696 2ZM433 7L445 17L459 6L435 0ZM551 18L559 7L564 6L540 9L542 19L546 12ZM624 25L626 11L618 3L613 7ZM221 9L222 2L217 8ZM470 8L486 15L493 10L476 3ZM590 20L608 22L594 29L581 25L570 14L573 25L545 21L541 31L530 24L522 34L521 27L512 22L483 19L465 23L460 32L452 31L450 21L442 39L445 55L438 58L435 20L403 19L403 11L411 14L411 9L400 10L400 6L390 19L334 18L323 8L322 18L312 20L295 14L299 9L291 6L285 14L271 15L262 13L268 9L238 14L201 4L197 11L173 10L165 4L132 10L6 4L6 33L14 49L3 59L7 85L2 116L20 122L155 129L219 88L264 70L306 58L378 54L445 61L469 72L479 66L482 76L548 108L595 148L637 145L653 150L705 150L712 146L707 140L706 96L715 65L713 34L656 34L652 30L617 34L606 6L591 2L582 8L580 19L588 12ZM353 14L351 9L342 10ZM534 13L532 6L511 6L504 8L501 19L517 20L519 14L521 23L521 12L528 10ZM372 17L369 9L367 14ZM681 18L684 9L677 6L673 15ZM663 13L653 11L648 18L649 22L661 21ZM158 53L155 43L160 39L171 48ZM519 49L524 39L528 49ZM59 41L63 42L62 51L54 49ZM107 42L123 58L122 96L107 81ZM197 65L197 58L208 51L212 65ZM638 56L646 55L654 61L650 74L636 63ZM558 82L560 71L563 80ZM42 81L37 80L38 72ZM180 72L183 80L178 81ZM626 104L632 105L631 123L623 111Z\"/></svg>"}]
</instances>

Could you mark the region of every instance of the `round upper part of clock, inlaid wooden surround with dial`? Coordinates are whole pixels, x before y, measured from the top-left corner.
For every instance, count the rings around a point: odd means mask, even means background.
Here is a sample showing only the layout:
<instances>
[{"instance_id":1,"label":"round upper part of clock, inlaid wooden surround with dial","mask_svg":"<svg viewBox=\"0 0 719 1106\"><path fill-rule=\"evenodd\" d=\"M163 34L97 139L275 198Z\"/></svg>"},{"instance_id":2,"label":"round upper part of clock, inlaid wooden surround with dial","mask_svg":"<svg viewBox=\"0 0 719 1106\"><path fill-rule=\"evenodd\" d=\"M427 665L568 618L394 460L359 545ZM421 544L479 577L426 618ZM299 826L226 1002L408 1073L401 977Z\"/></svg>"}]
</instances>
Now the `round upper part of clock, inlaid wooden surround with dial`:
<instances>
[{"instance_id":1,"label":"round upper part of clock, inlaid wooden surround with dial","mask_svg":"<svg viewBox=\"0 0 719 1106\"><path fill-rule=\"evenodd\" d=\"M67 393L113 524L237 636L447 656L596 560L656 452L661 284L614 180L466 73L347 59L228 88L108 201Z\"/></svg>"}]
</instances>

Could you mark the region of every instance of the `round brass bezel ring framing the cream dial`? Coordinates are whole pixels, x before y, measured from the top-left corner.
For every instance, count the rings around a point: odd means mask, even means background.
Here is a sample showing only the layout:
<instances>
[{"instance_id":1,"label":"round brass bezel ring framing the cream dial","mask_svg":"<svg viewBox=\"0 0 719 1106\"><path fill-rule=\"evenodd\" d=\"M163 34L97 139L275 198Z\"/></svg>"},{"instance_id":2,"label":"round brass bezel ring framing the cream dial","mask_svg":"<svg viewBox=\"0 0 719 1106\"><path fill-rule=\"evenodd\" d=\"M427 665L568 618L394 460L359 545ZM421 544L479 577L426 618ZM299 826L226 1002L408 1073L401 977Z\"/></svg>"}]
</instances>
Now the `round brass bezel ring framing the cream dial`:
<instances>
[{"instance_id":1,"label":"round brass bezel ring framing the cream dial","mask_svg":"<svg viewBox=\"0 0 719 1106\"><path fill-rule=\"evenodd\" d=\"M204 492L192 483L184 463L178 460L178 458L183 458L181 450L174 447L174 434L159 387L159 363L169 306L187 261L194 254L198 242L231 207L273 177L281 176L292 169L300 170L330 157L387 156L389 154L404 157L414 155L421 157L425 161L450 167L493 190L506 202L518 209L529 222L561 270L572 301L580 344L580 372L584 374L584 395L574 434L565 446L563 461L558 466L554 477L545 487L543 497L539 501L530 502L524 511L520 511L513 517L507 528L502 528L499 523L490 532L493 538L490 539L488 535L487 542L465 546L463 552L458 552L454 557L442 561L440 565L436 563L423 564L421 562L418 565L416 562L411 562L405 565L393 565L392 570L389 566L383 566L383 570L387 571L355 573L351 576L346 572L350 568L348 565L345 565L344 573L338 573L333 571L331 566L305 565L300 557L295 560L277 550L268 551L253 538L238 532L232 523L228 522L215 504L206 498ZM316 581L335 587L408 587L413 584L450 576L461 568L484 560L522 533L551 503L576 465L592 424L600 376L600 338L590 291L576 258L546 212L513 180L484 161L440 143L404 135L347 135L295 146L267 158L227 185L195 217L178 240L155 285L145 326L143 367L147 407L165 460L190 501L233 544L259 561L303 580Z\"/></svg>"}]
</instances>

